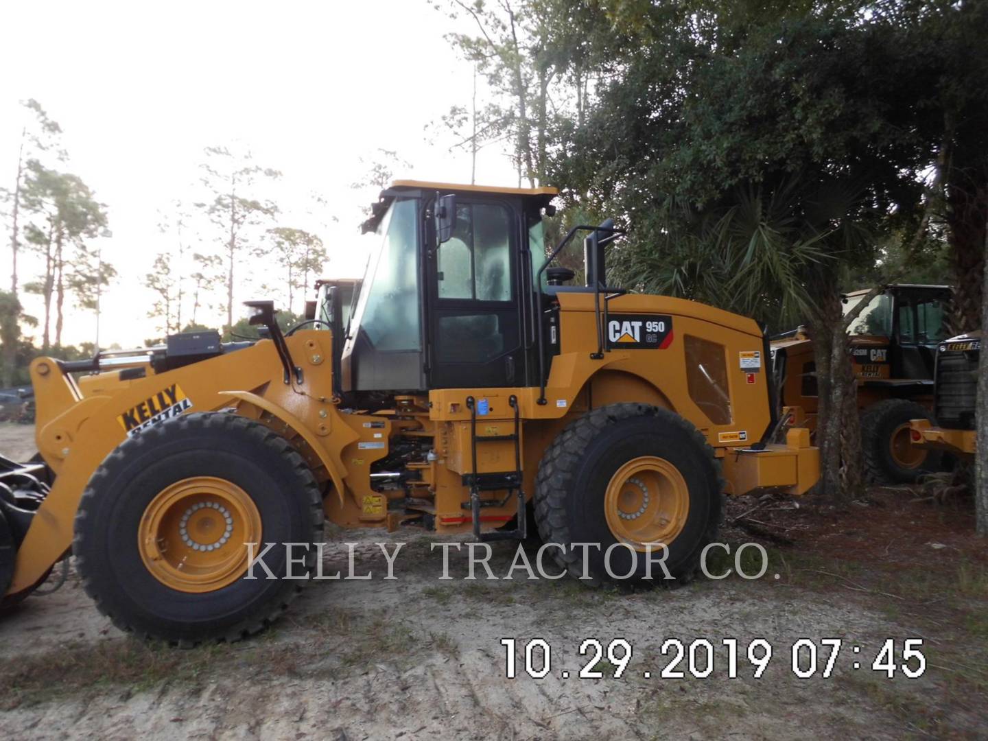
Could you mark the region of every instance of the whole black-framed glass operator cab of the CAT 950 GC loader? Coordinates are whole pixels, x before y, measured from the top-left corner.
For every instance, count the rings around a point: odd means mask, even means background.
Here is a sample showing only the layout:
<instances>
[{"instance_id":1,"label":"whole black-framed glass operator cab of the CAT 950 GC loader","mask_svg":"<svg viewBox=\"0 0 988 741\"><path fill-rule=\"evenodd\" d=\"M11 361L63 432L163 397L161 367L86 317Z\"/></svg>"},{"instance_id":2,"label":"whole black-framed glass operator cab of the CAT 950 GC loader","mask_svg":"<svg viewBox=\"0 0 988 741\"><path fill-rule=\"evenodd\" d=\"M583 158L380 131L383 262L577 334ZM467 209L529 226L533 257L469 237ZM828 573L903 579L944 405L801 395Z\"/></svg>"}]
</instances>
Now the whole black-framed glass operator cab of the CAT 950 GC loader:
<instances>
[{"instance_id":1,"label":"whole black-framed glass operator cab of the CAT 950 GC loader","mask_svg":"<svg viewBox=\"0 0 988 741\"><path fill-rule=\"evenodd\" d=\"M378 241L342 346L340 390L537 384L541 216L557 193L417 181L382 191L363 225Z\"/></svg>"}]
</instances>

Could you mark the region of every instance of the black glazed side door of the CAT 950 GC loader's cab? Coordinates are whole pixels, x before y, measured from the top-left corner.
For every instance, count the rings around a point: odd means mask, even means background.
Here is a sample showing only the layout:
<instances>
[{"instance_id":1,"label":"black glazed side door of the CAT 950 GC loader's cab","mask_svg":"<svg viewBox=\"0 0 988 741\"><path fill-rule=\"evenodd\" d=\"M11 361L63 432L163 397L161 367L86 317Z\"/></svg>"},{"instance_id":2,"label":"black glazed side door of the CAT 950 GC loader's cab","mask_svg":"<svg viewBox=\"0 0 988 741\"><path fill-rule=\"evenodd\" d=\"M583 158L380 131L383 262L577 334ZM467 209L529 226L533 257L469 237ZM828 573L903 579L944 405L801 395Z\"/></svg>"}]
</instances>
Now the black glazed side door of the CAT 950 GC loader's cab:
<instances>
[{"instance_id":1,"label":"black glazed side door of the CAT 950 GC loader's cab","mask_svg":"<svg viewBox=\"0 0 988 741\"><path fill-rule=\"evenodd\" d=\"M456 197L453 234L427 265L430 388L523 382L518 223L509 200Z\"/></svg>"}]
</instances>

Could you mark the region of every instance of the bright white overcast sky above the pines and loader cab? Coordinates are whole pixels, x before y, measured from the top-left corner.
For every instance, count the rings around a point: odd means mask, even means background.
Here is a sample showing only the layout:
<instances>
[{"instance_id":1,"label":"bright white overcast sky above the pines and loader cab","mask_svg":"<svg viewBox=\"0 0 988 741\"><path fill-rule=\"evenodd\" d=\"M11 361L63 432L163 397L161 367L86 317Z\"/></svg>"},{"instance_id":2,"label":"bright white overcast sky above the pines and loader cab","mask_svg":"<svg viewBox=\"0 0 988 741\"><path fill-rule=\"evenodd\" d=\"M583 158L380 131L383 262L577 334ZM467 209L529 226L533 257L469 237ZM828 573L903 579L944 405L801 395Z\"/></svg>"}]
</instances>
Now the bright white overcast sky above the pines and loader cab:
<instances>
[{"instance_id":1,"label":"bright white overcast sky above the pines and loader cab","mask_svg":"<svg viewBox=\"0 0 988 741\"><path fill-rule=\"evenodd\" d=\"M20 101L35 98L64 130L64 168L109 206L113 237L100 241L121 277L104 294L103 346L157 334L146 317L153 295L141 281L167 246L158 210L201 198L209 145L249 147L258 164L281 170L287 219L309 207L309 193L326 197L326 220L341 222L323 235L331 258L324 273L362 275L357 204L368 196L350 187L365 170L362 157L392 149L412 165L399 176L469 182L468 156L451 154L448 140L426 143L423 131L469 102L470 65L443 38L452 28L427 0L4 2L0 185L14 185ZM477 181L515 184L510 162L493 149L478 160ZM7 240L5 228L4 288ZM37 272L29 262L22 282ZM41 317L39 298L25 302ZM66 343L94 334L92 312L69 311Z\"/></svg>"}]
</instances>

